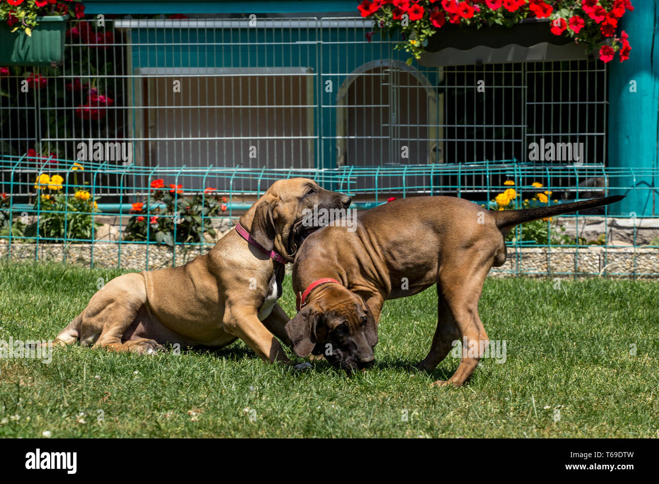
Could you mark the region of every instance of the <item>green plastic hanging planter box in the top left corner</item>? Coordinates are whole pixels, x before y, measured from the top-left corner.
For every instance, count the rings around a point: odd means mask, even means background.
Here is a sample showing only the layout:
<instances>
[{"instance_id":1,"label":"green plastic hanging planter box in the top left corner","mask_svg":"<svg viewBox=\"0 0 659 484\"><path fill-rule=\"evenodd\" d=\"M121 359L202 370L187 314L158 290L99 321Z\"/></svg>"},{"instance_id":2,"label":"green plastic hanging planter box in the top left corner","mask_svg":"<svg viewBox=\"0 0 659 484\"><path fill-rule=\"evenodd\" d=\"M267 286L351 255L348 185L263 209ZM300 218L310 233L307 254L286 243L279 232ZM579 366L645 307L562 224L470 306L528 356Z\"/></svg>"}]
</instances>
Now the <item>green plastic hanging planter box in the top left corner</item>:
<instances>
[{"instance_id":1,"label":"green plastic hanging planter box in the top left corner","mask_svg":"<svg viewBox=\"0 0 659 484\"><path fill-rule=\"evenodd\" d=\"M37 17L37 22L32 36L23 30L11 32L7 24L0 25L0 65L54 66L63 61L66 17Z\"/></svg>"}]
</instances>

